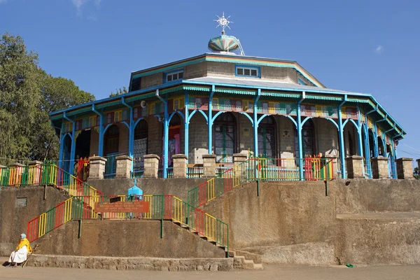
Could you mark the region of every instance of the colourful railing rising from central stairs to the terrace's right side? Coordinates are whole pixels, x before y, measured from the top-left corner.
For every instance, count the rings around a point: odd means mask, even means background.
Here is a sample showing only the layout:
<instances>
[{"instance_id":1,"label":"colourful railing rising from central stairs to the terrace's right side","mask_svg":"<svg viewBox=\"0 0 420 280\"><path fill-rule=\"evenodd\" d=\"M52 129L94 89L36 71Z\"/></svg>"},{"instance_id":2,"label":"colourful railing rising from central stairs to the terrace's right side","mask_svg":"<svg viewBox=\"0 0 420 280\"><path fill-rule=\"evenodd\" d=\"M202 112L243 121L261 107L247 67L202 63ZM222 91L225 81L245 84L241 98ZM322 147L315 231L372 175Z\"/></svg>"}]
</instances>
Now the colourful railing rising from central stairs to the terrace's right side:
<instances>
[{"instance_id":1,"label":"colourful railing rising from central stairs to the terrace's right side","mask_svg":"<svg viewBox=\"0 0 420 280\"><path fill-rule=\"evenodd\" d=\"M303 166L300 176L299 165ZM250 158L188 191L188 203L200 207L248 181L329 181L334 178L332 159Z\"/></svg>"}]
</instances>

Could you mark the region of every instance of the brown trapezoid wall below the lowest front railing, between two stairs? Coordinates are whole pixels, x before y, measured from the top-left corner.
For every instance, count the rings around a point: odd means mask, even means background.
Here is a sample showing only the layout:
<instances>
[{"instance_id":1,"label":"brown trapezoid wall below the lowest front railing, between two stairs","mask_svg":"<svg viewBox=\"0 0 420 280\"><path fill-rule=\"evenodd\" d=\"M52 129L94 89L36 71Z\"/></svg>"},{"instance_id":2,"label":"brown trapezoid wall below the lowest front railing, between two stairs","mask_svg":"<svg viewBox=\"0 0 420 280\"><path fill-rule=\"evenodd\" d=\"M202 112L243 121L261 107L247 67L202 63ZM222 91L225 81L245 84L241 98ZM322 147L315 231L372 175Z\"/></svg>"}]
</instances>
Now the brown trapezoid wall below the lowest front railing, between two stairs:
<instances>
[{"instance_id":1,"label":"brown trapezoid wall below the lowest front railing, between two stairs","mask_svg":"<svg viewBox=\"0 0 420 280\"><path fill-rule=\"evenodd\" d=\"M70 221L34 241L42 255L106 255L110 257L225 258L224 249L172 221Z\"/></svg>"}]
</instances>

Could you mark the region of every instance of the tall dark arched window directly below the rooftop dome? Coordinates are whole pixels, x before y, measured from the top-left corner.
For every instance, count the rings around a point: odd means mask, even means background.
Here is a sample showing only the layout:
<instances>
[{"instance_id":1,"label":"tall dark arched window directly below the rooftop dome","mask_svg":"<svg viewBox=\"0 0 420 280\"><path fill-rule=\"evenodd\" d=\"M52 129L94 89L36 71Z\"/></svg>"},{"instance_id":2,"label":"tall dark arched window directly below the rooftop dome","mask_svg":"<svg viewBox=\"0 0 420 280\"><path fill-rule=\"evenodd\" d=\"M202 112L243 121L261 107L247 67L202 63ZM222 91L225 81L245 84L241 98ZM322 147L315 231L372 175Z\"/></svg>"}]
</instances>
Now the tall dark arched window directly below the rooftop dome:
<instances>
[{"instance_id":1,"label":"tall dark arched window directly below the rooftop dome","mask_svg":"<svg viewBox=\"0 0 420 280\"><path fill-rule=\"evenodd\" d=\"M232 113L222 113L214 120L216 162L233 162L236 151L236 121Z\"/></svg>"}]
</instances>

